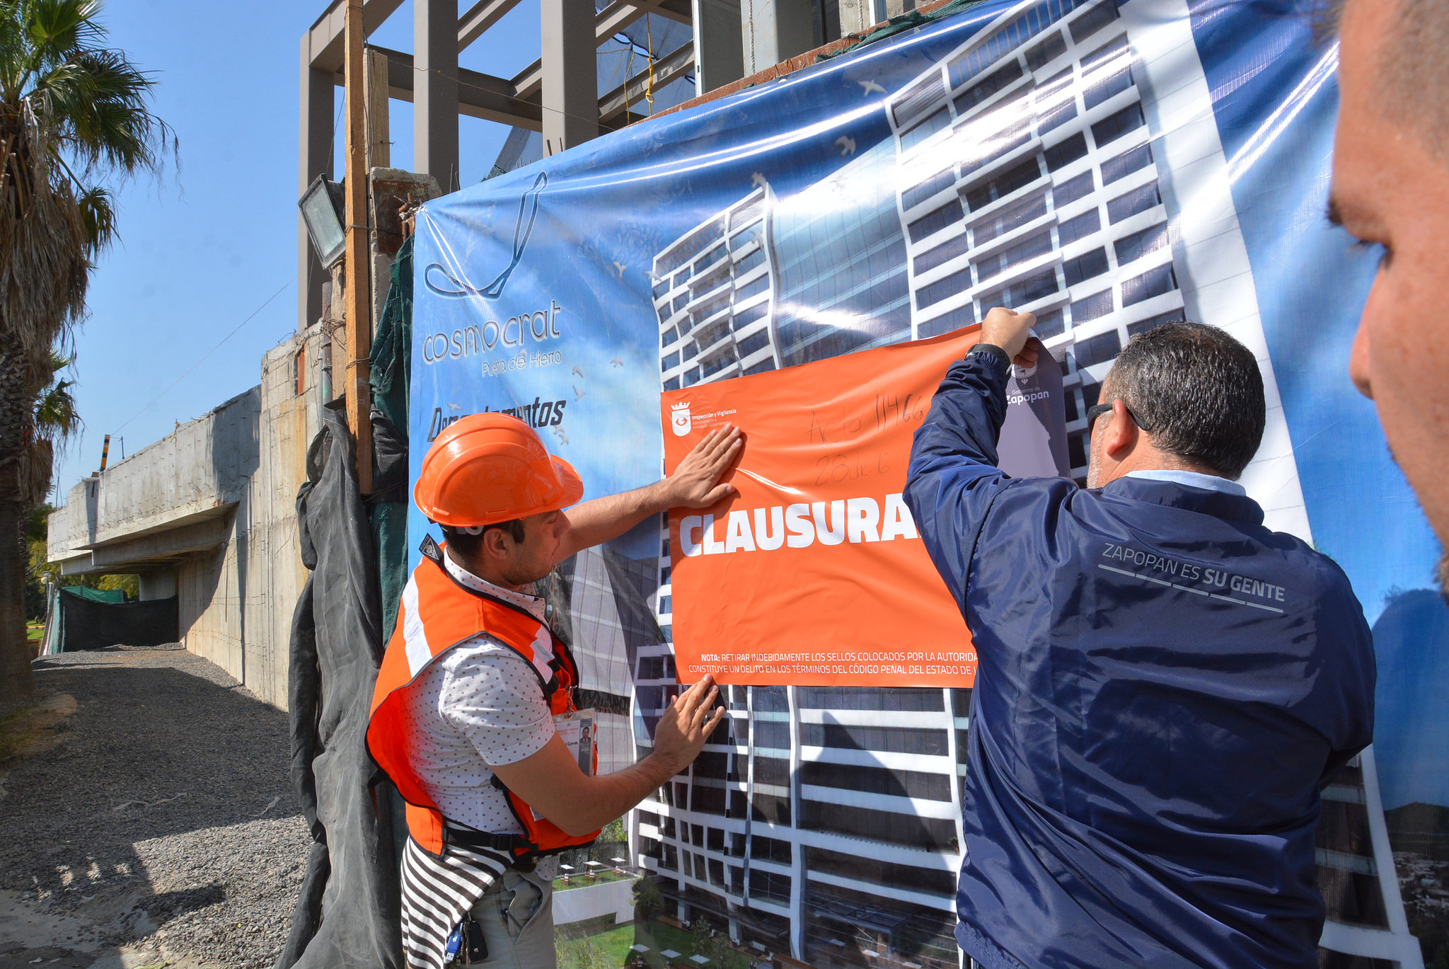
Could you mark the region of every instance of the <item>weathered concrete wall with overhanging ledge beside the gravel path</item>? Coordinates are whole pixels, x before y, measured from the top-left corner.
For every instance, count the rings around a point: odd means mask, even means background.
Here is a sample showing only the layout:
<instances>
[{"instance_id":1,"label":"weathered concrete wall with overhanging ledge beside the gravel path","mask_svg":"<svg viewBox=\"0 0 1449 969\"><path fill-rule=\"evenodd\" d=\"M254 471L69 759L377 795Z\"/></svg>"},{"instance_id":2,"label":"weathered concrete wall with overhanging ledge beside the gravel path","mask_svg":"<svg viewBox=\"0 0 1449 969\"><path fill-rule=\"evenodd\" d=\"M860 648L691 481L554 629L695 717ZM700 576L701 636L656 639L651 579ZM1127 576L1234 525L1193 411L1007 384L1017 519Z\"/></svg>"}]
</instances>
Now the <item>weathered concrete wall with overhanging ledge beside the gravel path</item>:
<instances>
[{"instance_id":1,"label":"weathered concrete wall with overhanging ledge beside the gravel path","mask_svg":"<svg viewBox=\"0 0 1449 969\"><path fill-rule=\"evenodd\" d=\"M284 339L256 387L81 482L49 521L49 557L67 574L135 572L143 598L174 590L187 650L281 708L307 579L296 498L320 426L323 342L320 326Z\"/></svg>"}]
</instances>

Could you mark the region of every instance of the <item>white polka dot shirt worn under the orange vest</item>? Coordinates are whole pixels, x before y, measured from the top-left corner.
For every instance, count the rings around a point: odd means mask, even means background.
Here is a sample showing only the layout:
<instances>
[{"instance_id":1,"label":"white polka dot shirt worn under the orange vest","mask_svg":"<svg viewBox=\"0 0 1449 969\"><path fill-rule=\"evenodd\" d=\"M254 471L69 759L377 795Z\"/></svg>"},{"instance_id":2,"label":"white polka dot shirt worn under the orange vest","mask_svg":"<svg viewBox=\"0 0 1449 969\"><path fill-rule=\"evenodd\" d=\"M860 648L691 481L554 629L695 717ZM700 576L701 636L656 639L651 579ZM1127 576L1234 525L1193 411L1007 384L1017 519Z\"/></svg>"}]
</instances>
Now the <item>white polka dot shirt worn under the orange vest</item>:
<instances>
[{"instance_id":1,"label":"white polka dot shirt worn under the orange vest","mask_svg":"<svg viewBox=\"0 0 1449 969\"><path fill-rule=\"evenodd\" d=\"M543 601L503 589L446 558L458 582L527 609ZM433 660L407 692L413 769L443 817L494 834L522 834L490 764L510 764L554 738L554 717L533 667L491 635L477 635Z\"/></svg>"}]
</instances>

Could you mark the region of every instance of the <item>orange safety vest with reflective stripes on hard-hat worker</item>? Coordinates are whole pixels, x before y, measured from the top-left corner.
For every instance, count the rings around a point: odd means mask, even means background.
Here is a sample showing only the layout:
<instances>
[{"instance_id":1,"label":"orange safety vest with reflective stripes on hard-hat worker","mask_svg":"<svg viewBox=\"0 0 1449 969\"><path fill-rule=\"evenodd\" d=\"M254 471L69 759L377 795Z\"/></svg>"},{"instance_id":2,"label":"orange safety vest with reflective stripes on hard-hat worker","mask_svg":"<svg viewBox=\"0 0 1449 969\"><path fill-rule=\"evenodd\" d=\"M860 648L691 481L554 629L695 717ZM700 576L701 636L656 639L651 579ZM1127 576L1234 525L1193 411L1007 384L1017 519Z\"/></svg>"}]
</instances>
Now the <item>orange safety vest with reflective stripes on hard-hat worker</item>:
<instances>
[{"instance_id":1,"label":"orange safety vest with reflective stripes on hard-hat worker","mask_svg":"<svg viewBox=\"0 0 1449 969\"><path fill-rule=\"evenodd\" d=\"M471 830L465 834L443 824L442 811L427 796L409 756L413 737L406 698L422 672L455 646L487 632L527 660L529 669L538 676L543 699L551 712L558 715L574 709L578 667L546 622L539 622L516 605L456 582L443 566L442 547L430 537L423 541L422 553L423 560L417 563L403 590L397 625L383 654L377 686L372 689L372 717L367 728L372 760L387 772L407 802L407 833L436 856L442 856L448 843L456 840L507 850L517 862L593 843L598 831L568 834L548 818L535 815L497 776L493 783L507 795L509 808L523 827L522 836L477 833L478 837L469 837ZM596 747L596 767L597 760Z\"/></svg>"}]
</instances>

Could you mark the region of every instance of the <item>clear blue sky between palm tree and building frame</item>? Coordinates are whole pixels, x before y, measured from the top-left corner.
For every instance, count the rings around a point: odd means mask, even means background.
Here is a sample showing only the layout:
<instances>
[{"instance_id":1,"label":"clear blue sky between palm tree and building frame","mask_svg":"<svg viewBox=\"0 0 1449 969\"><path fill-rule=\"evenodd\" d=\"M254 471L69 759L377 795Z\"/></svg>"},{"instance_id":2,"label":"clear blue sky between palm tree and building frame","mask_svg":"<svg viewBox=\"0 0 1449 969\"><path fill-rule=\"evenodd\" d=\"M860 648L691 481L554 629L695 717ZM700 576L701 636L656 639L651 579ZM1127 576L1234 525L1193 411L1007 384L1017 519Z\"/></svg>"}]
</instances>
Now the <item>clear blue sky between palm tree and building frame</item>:
<instances>
[{"instance_id":1,"label":"clear blue sky between palm tree and building frame","mask_svg":"<svg viewBox=\"0 0 1449 969\"><path fill-rule=\"evenodd\" d=\"M110 46L156 73L155 110L175 128L181 164L120 191L120 241L99 260L90 318L75 338L85 429L57 464L57 503L100 466L107 432L113 463L122 448L135 454L177 421L256 384L262 354L296 329L297 57L303 30L325 7L325 0L104 6ZM412 51L412 25L407 1L371 41ZM519 4L461 62L509 77L538 54L538 4ZM469 184L493 165L509 129L472 117L459 123L459 168ZM412 126L412 104L393 102L396 167L410 167ZM341 171L341 152L338 164Z\"/></svg>"}]
</instances>

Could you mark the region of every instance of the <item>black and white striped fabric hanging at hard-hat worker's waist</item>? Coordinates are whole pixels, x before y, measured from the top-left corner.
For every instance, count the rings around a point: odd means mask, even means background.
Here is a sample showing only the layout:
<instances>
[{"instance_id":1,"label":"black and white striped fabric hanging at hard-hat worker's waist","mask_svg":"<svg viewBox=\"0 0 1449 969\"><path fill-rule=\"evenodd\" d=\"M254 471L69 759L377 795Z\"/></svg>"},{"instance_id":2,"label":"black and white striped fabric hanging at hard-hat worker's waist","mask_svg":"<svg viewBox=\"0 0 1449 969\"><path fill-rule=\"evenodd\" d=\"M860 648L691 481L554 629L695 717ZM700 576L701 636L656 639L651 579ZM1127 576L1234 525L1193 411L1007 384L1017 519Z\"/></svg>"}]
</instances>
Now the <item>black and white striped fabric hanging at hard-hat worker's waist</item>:
<instances>
[{"instance_id":1,"label":"black and white striped fabric hanging at hard-hat worker's waist","mask_svg":"<svg viewBox=\"0 0 1449 969\"><path fill-rule=\"evenodd\" d=\"M507 867L503 853L449 844L443 857L403 849L403 953L409 969L443 969L448 936Z\"/></svg>"}]
</instances>

